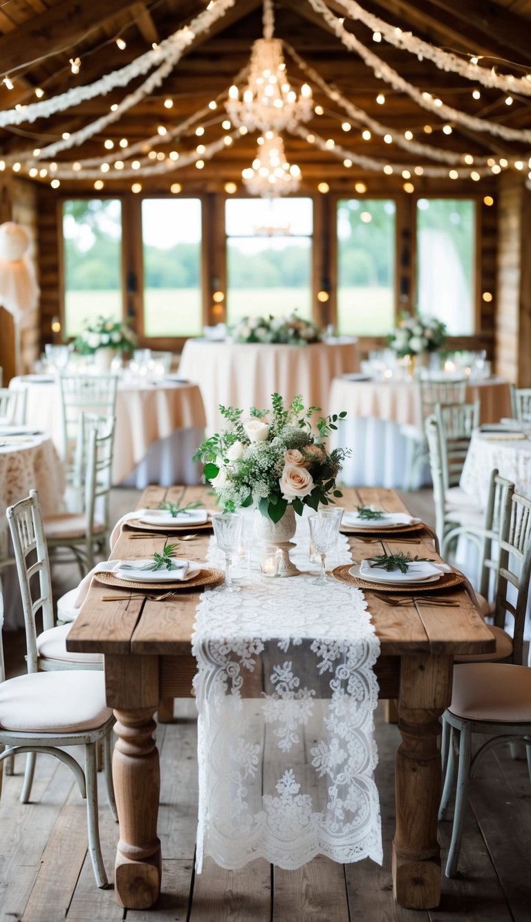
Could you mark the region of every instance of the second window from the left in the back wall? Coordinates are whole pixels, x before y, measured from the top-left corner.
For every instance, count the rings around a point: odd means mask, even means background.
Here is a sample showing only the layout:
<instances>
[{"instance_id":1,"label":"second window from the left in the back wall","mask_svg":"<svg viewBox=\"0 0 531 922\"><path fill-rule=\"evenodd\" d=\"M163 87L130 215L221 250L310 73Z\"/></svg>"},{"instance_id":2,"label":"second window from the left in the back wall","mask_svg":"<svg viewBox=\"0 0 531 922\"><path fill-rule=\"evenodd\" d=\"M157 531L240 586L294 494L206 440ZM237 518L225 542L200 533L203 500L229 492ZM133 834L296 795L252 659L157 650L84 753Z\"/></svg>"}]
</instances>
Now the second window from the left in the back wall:
<instances>
[{"instance_id":1,"label":"second window from the left in the back wall","mask_svg":"<svg viewBox=\"0 0 531 922\"><path fill-rule=\"evenodd\" d=\"M144 335L197 336L203 325L201 200L142 202Z\"/></svg>"}]
</instances>

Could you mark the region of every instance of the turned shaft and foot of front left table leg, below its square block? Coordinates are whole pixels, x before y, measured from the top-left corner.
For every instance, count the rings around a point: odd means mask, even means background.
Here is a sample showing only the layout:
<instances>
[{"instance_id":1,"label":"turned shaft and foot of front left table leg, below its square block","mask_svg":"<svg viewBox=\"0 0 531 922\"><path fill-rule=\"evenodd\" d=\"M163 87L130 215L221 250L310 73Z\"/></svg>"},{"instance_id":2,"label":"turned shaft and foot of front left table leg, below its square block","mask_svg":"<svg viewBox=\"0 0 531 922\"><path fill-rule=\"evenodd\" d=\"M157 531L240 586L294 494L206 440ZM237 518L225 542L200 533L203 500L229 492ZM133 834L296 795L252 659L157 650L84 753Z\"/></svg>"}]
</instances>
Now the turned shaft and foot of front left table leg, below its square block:
<instances>
[{"instance_id":1,"label":"turned shaft and foot of front left table leg, below its square block","mask_svg":"<svg viewBox=\"0 0 531 922\"><path fill-rule=\"evenodd\" d=\"M120 822L115 886L118 903L128 909L148 909L160 892L160 772L154 713L154 708L114 711L118 740L112 778Z\"/></svg>"}]
</instances>

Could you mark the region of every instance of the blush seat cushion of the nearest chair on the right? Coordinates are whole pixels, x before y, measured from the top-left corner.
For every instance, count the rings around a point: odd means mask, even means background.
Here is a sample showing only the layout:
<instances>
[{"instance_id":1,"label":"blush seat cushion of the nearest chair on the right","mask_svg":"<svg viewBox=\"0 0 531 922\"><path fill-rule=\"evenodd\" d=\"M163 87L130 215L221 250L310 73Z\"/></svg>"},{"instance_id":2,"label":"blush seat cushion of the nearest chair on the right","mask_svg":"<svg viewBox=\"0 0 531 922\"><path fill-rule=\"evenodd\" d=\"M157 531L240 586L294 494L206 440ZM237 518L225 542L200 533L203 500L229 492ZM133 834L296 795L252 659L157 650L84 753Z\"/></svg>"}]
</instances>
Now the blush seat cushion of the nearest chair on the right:
<instances>
[{"instance_id":1,"label":"blush seat cushion of the nearest chair on the right","mask_svg":"<svg viewBox=\"0 0 531 922\"><path fill-rule=\"evenodd\" d=\"M467 720L531 722L531 668L512 663L455 666L449 710Z\"/></svg>"}]
</instances>

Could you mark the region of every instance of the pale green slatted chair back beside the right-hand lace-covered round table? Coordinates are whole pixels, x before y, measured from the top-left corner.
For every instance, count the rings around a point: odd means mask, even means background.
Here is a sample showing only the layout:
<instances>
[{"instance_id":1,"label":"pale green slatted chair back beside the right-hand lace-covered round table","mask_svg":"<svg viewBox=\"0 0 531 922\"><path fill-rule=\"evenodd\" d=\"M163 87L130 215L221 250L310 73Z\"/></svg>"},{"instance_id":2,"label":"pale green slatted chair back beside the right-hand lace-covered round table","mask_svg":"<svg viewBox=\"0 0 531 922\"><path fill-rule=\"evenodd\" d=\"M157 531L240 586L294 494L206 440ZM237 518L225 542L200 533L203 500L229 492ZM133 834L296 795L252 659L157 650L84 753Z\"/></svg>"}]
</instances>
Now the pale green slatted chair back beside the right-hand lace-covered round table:
<instances>
[{"instance_id":1,"label":"pale green slatted chair back beside the right-hand lace-covered round table","mask_svg":"<svg viewBox=\"0 0 531 922\"><path fill-rule=\"evenodd\" d=\"M435 405L443 447L444 487L456 487L465 464L472 432L478 428L479 401Z\"/></svg>"}]
</instances>

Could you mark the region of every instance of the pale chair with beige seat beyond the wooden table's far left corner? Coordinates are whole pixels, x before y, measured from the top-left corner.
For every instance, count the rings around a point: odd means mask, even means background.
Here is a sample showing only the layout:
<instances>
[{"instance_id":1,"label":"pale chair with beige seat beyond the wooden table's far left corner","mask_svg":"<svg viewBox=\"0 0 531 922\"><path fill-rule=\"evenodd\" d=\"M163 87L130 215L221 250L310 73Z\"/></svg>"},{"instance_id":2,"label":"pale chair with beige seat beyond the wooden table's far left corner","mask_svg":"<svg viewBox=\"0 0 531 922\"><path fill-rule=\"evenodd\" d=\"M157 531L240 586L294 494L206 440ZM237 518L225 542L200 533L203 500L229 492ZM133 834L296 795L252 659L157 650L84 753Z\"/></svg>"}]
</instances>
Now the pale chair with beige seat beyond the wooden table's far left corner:
<instances>
[{"instance_id":1,"label":"pale chair with beige seat beyond the wooden table's far left corner","mask_svg":"<svg viewBox=\"0 0 531 922\"><path fill-rule=\"evenodd\" d=\"M44 534L52 559L57 558L59 549L71 551L73 556L67 560L77 561L81 576L92 569L95 554L106 546L109 538L114 421L114 417L81 415L73 479L82 486L83 511L44 519Z\"/></svg>"}]
</instances>

